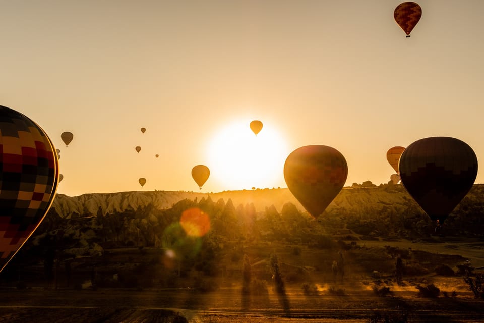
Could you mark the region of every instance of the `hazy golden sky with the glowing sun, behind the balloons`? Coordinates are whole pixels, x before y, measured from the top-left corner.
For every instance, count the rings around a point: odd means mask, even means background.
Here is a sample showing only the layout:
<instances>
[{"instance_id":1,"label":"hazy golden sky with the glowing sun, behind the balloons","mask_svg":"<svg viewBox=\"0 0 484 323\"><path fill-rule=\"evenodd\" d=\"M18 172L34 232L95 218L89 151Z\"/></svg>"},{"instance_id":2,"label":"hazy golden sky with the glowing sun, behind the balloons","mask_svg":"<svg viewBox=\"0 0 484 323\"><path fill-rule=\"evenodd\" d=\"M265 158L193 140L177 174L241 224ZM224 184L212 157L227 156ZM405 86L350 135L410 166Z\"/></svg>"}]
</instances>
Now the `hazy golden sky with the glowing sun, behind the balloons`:
<instances>
[{"instance_id":1,"label":"hazy golden sky with the glowing sun, behind the balloons","mask_svg":"<svg viewBox=\"0 0 484 323\"><path fill-rule=\"evenodd\" d=\"M345 156L346 186L387 183L387 150L424 137L484 160L484 1L419 0L411 38L401 2L0 0L0 105L61 150L67 195L199 191L198 164L201 192L286 187L310 144Z\"/></svg>"}]
</instances>

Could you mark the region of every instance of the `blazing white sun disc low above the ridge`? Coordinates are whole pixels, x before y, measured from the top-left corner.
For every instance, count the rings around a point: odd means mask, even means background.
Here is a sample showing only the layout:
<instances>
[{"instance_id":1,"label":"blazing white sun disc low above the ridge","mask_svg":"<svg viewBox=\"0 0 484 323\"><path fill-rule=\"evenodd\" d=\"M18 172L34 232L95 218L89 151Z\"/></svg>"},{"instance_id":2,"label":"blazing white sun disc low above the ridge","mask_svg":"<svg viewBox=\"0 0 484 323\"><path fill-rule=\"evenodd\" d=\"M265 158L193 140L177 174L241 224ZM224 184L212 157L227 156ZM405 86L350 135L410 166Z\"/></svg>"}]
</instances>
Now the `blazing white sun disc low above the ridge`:
<instances>
[{"instance_id":1,"label":"blazing white sun disc low above the ridge","mask_svg":"<svg viewBox=\"0 0 484 323\"><path fill-rule=\"evenodd\" d=\"M232 123L210 141L211 179L224 190L285 186L285 140L270 124L264 124L257 136L249 124L250 120Z\"/></svg>"}]
</instances>

